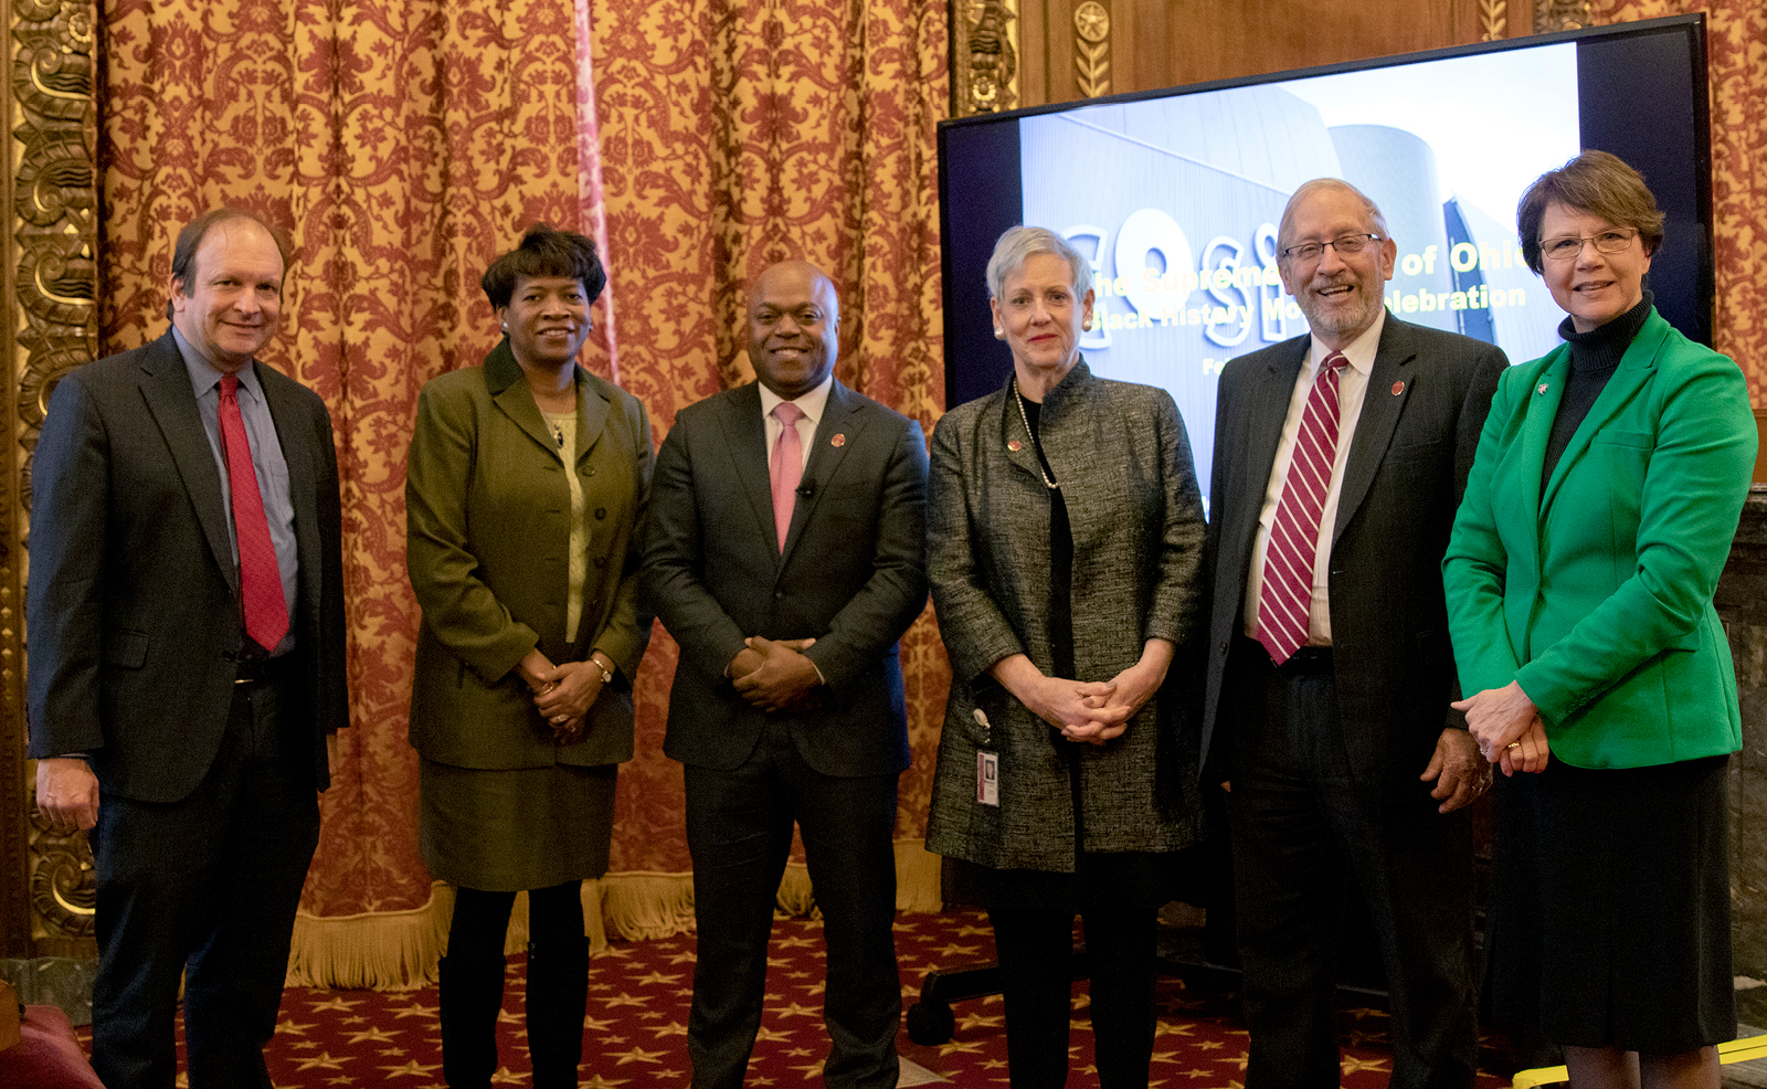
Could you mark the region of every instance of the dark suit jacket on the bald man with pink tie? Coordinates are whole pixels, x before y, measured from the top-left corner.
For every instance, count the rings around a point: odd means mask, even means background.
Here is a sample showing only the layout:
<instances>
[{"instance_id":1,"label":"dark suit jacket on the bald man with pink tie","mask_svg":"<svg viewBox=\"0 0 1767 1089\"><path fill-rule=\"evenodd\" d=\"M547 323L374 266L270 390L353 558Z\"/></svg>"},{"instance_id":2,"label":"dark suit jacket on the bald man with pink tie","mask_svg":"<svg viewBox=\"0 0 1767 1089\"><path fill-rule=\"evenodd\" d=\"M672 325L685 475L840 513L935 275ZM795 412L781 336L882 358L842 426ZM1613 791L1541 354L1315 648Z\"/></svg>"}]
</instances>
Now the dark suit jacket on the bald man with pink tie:
<instances>
[{"instance_id":1,"label":"dark suit jacket on the bald man with pink tie","mask_svg":"<svg viewBox=\"0 0 1767 1089\"><path fill-rule=\"evenodd\" d=\"M728 771L763 712L724 677L744 636L815 636L827 688L792 716L823 774L908 767L896 640L926 606L926 438L921 424L839 382L811 440L785 553L767 477L760 387L684 408L657 453L641 587L680 644L663 751Z\"/></svg>"}]
</instances>

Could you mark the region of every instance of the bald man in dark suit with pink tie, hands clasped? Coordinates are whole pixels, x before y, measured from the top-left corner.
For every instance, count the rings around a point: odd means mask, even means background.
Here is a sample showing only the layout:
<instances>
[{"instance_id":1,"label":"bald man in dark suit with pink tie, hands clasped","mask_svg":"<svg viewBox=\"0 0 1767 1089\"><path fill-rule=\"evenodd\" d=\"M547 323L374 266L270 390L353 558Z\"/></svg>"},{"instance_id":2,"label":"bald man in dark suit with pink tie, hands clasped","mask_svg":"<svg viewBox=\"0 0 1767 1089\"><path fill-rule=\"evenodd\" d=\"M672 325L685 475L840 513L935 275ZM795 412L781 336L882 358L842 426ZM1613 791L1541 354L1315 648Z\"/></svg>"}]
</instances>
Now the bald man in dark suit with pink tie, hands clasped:
<instances>
[{"instance_id":1,"label":"bald man in dark suit with pink tie, hands clasped","mask_svg":"<svg viewBox=\"0 0 1767 1089\"><path fill-rule=\"evenodd\" d=\"M657 454L643 590L680 644L663 750L686 764L694 1089L742 1084L793 820L829 946L823 1080L896 1084L896 640L926 605L926 440L834 380L838 329L813 265L762 272L760 382L684 408Z\"/></svg>"}]
</instances>

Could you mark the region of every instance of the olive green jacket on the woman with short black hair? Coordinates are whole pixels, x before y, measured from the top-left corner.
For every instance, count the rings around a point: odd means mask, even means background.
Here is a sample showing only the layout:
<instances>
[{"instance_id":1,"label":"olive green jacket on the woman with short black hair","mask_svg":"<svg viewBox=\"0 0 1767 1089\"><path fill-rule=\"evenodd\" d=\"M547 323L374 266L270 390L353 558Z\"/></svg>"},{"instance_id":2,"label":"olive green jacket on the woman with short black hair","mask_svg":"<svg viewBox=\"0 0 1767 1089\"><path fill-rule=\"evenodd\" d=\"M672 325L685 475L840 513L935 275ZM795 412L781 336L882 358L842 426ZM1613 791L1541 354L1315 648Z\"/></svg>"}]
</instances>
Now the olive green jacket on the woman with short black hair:
<instances>
[{"instance_id":1,"label":"olive green jacket on the woman with short black hair","mask_svg":"<svg viewBox=\"0 0 1767 1089\"><path fill-rule=\"evenodd\" d=\"M581 368L576 423L590 539L567 644L571 486L509 341L417 396L405 476L405 566L422 606L410 741L429 760L511 769L633 755L631 679L650 638L638 613L650 423L634 396ZM618 666L578 744L551 741L514 672L534 647L555 663L601 647Z\"/></svg>"}]
</instances>

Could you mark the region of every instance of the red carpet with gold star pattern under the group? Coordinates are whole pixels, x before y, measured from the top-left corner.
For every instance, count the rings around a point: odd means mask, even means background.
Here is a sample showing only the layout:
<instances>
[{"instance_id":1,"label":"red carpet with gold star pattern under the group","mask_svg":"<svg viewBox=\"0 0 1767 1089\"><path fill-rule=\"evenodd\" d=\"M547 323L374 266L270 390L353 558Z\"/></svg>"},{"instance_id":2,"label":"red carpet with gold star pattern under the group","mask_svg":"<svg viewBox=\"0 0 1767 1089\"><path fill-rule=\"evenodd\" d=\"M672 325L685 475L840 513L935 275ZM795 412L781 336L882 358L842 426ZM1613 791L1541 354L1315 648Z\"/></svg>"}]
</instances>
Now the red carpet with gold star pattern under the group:
<instances>
[{"instance_id":1,"label":"red carpet with gold star pattern under the group","mask_svg":"<svg viewBox=\"0 0 1767 1089\"><path fill-rule=\"evenodd\" d=\"M984 962L993 956L988 921L979 912L899 914L896 951L901 958L903 1008L921 994L929 969ZM767 976L767 1009L749 1064L747 1085L820 1085L827 1036L822 1031L822 923L777 919ZM687 1006L693 995L693 935L647 942L613 942L590 962L588 1025L580 1085L588 1089L684 1087L687 1075ZM528 1085L523 1017L523 958L509 958L504 1013L498 1025L500 1070L493 1084ZM1087 985L1074 983L1071 1089L1096 1089ZM901 1085L1004 1087L1005 1018L1000 997L951 1006L956 1031L949 1043L921 1047L898 1038ZM182 1022L180 1022L182 1024ZM1345 1089L1387 1084L1392 1054L1387 1017L1346 1009L1343 1025ZM88 1031L81 1031L83 1036ZM83 1040L90 1047L90 1038ZM180 1045L182 1052L182 1045ZM283 1089L442 1089L442 1040L436 990L288 990L270 1077ZM1154 1041L1150 1087L1239 1089L1246 1068L1246 1031L1239 997L1202 994L1179 979L1161 979L1159 1034ZM178 1084L184 1085L180 1075ZM1481 1075L1479 1089L1500 1085Z\"/></svg>"}]
</instances>

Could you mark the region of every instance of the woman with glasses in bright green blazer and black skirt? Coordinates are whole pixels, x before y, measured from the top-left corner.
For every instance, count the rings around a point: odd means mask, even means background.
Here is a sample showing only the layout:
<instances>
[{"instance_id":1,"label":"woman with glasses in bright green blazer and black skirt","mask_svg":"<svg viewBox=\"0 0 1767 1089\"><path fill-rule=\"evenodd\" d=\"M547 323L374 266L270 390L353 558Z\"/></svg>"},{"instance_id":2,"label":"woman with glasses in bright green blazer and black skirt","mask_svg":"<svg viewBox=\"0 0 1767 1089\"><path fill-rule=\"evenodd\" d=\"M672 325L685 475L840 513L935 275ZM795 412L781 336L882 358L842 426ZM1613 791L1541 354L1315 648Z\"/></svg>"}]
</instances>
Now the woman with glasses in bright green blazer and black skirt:
<instances>
[{"instance_id":1,"label":"woman with glasses in bright green blazer and black skirt","mask_svg":"<svg viewBox=\"0 0 1767 1089\"><path fill-rule=\"evenodd\" d=\"M1580 1089L1716 1089L1740 720L1712 592L1755 465L1748 385L1656 313L1663 214L1634 170L1583 152L1518 219L1566 345L1504 375L1444 560L1456 707L1509 776L1491 999Z\"/></svg>"}]
</instances>

